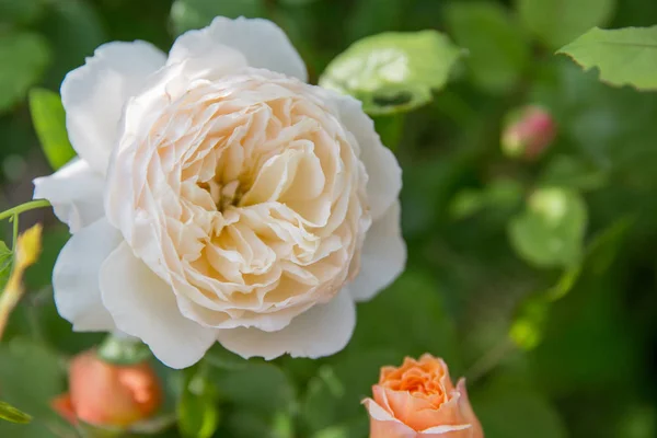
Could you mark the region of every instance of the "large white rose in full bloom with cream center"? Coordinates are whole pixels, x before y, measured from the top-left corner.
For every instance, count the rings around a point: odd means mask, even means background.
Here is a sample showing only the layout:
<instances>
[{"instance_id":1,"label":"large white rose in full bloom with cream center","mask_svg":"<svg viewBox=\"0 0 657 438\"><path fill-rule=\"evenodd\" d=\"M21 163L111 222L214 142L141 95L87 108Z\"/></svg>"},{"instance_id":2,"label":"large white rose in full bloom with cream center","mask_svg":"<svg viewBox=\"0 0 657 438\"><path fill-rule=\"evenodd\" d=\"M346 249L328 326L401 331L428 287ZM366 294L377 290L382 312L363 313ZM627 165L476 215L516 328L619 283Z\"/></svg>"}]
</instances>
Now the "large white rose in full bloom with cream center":
<instances>
[{"instance_id":1,"label":"large white rose in full bloom with cream center","mask_svg":"<svg viewBox=\"0 0 657 438\"><path fill-rule=\"evenodd\" d=\"M53 285L76 331L182 368L215 342L320 357L403 269L401 171L360 104L307 80L264 20L110 43L61 85L79 158L35 180L72 237Z\"/></svg>"}]
</instances>

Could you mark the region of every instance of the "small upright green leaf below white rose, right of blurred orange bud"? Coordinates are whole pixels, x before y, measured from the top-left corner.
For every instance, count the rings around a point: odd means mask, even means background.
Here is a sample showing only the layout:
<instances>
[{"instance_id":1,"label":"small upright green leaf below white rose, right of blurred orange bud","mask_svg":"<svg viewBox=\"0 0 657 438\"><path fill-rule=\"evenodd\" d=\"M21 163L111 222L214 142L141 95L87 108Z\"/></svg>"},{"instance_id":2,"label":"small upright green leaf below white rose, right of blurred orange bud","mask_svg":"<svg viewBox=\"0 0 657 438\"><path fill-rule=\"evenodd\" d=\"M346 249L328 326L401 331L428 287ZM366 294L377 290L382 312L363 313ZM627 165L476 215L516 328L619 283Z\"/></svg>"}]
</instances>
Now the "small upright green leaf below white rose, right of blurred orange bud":
<instances>
[{"instance_id":1,"label":"small upright green leaf below white rose, right of blurred orange bud","mask_svg":"<svg viewBox=\"0 0 657 438\"><path fill-rule=\"evenodd\" d=\"M177 404L178 430L184 438L209 438L219 427L217 391L205 372L188 372Z\"/></svg>"}]
</instances>

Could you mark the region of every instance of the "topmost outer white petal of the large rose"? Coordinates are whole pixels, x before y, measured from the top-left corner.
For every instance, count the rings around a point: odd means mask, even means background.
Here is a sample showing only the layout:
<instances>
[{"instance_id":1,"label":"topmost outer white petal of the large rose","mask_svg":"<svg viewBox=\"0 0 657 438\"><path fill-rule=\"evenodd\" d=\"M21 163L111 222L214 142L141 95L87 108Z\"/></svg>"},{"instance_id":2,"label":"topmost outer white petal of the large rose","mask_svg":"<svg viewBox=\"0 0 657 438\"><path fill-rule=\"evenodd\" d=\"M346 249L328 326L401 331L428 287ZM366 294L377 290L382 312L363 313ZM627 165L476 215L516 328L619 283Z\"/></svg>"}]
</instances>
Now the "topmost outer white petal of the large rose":
<instances>
[{"instance_id":1,"label":"topmost outer white petal of the large rose","mask_svg":"<svg viewBox=\"0 0 657 438\"><path fill-rule=\"evenodd\" d=\"M298 78L306 82L308 73L303 60L276 24L268 20L230 20L217 16L212 23L199 31L189 31L178 36L169 55L169 64L188 58L201 58L212 47L223 45L240 51L250 67L265 68ZM221 57L215 57L217 68L222 69Z\"/></svg>"}]
</instances>

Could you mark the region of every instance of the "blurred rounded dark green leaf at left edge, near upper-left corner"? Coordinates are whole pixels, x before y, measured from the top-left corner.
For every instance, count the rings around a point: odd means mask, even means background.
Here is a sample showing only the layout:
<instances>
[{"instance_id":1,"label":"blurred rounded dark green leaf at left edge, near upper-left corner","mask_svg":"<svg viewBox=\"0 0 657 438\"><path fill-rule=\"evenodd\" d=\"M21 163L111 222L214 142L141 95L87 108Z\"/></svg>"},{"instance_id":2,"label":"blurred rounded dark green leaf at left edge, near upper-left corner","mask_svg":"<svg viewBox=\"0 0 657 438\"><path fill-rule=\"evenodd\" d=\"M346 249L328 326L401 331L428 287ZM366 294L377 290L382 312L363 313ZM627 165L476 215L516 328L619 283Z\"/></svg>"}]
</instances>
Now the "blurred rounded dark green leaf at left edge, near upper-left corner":
<instances>
[{"instance_id":1,"label":"blurred rounded dark green leaf at left edge, near upper-left corner","mask_svg":"<svg viewBox=\"0 0 657 438\"><path fill-rule=\"evenodd\" d=\"M21 102L50 60L48 43L32 33L0 36L0 112Z\"/></svg>"}]
</instances>

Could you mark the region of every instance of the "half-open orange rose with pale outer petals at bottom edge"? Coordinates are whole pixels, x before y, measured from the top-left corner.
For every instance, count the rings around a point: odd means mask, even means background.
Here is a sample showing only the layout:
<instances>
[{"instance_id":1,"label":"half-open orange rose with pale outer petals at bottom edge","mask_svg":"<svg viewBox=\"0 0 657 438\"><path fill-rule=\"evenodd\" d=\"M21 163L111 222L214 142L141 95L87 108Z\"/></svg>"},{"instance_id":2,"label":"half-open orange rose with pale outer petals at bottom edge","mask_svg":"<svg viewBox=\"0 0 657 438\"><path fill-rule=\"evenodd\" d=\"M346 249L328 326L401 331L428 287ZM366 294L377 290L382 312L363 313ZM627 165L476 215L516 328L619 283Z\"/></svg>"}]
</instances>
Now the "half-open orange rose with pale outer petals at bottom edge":
<instances>
[{"instance_id":1,"label":"half-open orange rose with pale outer petals at bottom edge","mask_svg":"<svg viewBox=\"0 0 657 438\"><path fill-rule=\"evenodd\" d=\"M381 368L373 399L362 403L370 415L370 438L483 438L465 391L454 388L442 359L424 355L399 367Z\"/></svg>"}]
</instances>

